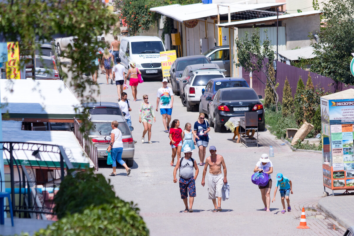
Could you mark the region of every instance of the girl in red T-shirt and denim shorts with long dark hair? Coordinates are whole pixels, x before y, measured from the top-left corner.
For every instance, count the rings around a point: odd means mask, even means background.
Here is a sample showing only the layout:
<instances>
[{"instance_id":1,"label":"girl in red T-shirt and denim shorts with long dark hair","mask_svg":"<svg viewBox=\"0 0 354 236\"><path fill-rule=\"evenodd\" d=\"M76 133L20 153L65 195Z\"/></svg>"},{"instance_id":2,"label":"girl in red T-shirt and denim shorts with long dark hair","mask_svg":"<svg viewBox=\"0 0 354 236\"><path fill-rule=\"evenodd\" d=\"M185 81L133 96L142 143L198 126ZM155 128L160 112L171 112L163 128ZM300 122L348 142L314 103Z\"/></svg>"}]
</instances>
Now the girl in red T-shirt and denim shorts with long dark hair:
<instances>
[{"instance_id":1,"label":"girl in red T-shirt and denim shorts with long dark hair","mask_svg":"<svg viewBox=\"0 0 354 236\"><path fill-rule=\"evenodd\" d=\"M172 161L170 163L173 166L173 162L175 161L175 157L177 154L177 159L181 158L181 149L183 145L182 140L182 129L179 128L179 120L173 120L170 125L170 145L172 148Z\"/></svg>"}]
</instances>

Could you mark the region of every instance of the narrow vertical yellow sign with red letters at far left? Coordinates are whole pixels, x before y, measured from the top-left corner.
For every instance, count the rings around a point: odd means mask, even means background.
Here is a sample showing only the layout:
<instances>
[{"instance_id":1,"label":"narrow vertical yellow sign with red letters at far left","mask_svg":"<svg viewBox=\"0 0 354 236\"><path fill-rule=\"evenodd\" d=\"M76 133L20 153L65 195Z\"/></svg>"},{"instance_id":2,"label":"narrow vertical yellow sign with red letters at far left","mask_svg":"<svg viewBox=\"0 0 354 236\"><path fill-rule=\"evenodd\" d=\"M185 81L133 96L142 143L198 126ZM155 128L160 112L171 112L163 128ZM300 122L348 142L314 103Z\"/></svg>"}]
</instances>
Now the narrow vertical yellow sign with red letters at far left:
<instances>
[{"instance_id":1,"label":"narrow vertical yellow sign with red letters at far left","mask_svg":"<svg viewBox=\"0 0 354 236\"><path fill-rule=\"evenodd\" d=\"M20 79L18 42L7 42L6 79Z\"/></svg>"}]
</instances>

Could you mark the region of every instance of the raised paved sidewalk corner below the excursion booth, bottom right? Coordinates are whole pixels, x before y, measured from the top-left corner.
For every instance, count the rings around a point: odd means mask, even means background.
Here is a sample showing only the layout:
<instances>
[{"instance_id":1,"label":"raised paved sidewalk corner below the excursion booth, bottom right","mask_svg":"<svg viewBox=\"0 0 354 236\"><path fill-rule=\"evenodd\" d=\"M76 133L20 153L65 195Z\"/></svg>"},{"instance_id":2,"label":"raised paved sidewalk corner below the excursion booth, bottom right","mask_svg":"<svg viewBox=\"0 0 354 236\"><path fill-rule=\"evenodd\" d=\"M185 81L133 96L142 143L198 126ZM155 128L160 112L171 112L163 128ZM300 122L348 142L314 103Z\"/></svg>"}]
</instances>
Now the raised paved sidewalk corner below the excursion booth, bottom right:
<instances>
[{"instance_id":1,"label":"raised paved sidewalk corner below the excursion booth, bottom right","mask_svg":"<svg viewBox=\"0 0 354 236\"><path fill-rule=\"evenodd\" d=\"M354 195L323 197L317 205L344 228L354 226Z\"/></svg>"}]
</instances>

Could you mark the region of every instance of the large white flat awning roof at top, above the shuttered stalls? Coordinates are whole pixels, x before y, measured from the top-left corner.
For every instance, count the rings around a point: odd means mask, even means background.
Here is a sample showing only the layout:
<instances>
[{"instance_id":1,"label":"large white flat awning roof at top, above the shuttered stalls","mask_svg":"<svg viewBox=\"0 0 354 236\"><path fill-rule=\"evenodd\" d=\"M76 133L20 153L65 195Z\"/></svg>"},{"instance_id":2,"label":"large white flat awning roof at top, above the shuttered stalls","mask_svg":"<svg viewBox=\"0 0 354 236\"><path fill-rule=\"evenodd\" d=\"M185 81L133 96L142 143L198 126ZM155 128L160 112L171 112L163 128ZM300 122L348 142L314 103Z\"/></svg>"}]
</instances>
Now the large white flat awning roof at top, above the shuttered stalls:
<instances>
[{"instance_id":1,"label":"large white flat awning roof at top, above the shuttered stalls","mask_svg":"<svg viewBox=\"0 0 354 236\"><path fill-rule=\"evenodd\" d=\"M219 15L227 15L228 14L228 6L230 6L230 13L249 11L249 10L266 10L270 7L278 7L285 5L285 2L277 2L277 3L262 3L262 4L189 4L189 5L167 5L160 7L152 7L150 11L157 12L161 15L170 17L179 22L190 21L193 19L199 18L207 18L210 16L217 16L218 10L217 5L219 5Z\"/></svg>"}]
</instances>

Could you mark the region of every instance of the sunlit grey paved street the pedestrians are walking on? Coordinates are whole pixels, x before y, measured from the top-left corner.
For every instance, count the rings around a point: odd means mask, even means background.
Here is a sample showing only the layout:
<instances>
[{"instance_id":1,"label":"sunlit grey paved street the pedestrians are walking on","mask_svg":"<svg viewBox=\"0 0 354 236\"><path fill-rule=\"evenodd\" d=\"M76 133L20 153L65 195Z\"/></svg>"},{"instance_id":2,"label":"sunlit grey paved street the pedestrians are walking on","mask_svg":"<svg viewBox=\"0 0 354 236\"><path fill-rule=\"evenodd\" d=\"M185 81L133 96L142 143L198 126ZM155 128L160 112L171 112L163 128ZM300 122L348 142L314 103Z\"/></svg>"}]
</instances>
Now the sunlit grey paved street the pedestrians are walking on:
<instances>
[{"instance_id":1,"label":"sunlit grey paved street the pedestrians are walking on","mask_svg":"<svg viewBox=\"0 0 354 236\"><path fill-rule=\"evenodd\" d=\"M214 207L208 199L207 186L201 185L204 167L199 167L194 212L183 213L184 204L179 186L178 183L173 183L170 141L168 134L163 132L160 112L155 111L153 144L147 143L147 135L146 142L141 143L143 125L138 122L138 109L143 102L142 95L147 94L149 102L155 108L156 92L162 86L160 81L145 80L143 84L139 84L137 102L132 101L131 89L125 90L131 99L134 127L132 134L137 140L131 175L127 177L125 169L119 166L118 175L110 177L108 175L112 172L112 167L104 162L100 162L98 170L98 173L110 180L117 196L137 203L150 235L343 235L343 228L317 208L317 202L323 193L321 154L293 152L286 145L280 145L281 140L275 139L267 130L259 132L260 147L246 148L232 140L233 134L230 131L215 133L211 128L209 146L215 145L217 154L225 159L230 198L222 202L222 212L213 213ZM106 85L104 75L99 75L98 83L101 96L97 96L97 100L118 101L116 86ZM179 97L175 96L172 119L179 119L183 129L186 122L193 124L197 118L198 112L187 112ZM251 182L253 168L259 157L269 152L269 145L274 147L275 153L270 158L274 166L271 198L276 173L282 172L293 183L294 194L290 196L292 211L285 214L281 214L279 192L275 203L270 203L271 212L263 211L260 191ZM194 150L192 157L198 161L198 152ZM296 228L300 223L302 207L306 208L307 225L310 229ZM336 230L333 230L333 225L336 225Z\"/></svg>"}]
</instances>

